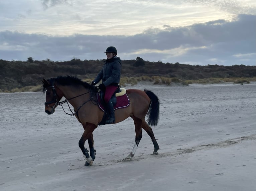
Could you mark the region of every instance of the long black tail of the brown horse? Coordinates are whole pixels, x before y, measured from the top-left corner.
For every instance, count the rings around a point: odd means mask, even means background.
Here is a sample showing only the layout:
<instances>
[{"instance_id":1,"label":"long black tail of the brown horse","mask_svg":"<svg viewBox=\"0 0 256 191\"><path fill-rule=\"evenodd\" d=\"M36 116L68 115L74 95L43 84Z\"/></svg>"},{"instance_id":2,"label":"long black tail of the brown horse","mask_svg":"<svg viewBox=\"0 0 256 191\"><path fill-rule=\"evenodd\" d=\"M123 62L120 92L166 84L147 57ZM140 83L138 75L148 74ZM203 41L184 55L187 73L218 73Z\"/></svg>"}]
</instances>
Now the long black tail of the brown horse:
<instances>
[{"instance_id":1,"label":"long black tail of the brown horse","mask_svg":"<svg viewBox=\"0 0 256 191\"><path fill-rule=\"evenodd\" d=\"M159 99L153 92L149 90L144 89L144 92L151 99L151 103L147 112L147 123L149 125L156 126L159 120Z\"/></svg>"}]
</instances>

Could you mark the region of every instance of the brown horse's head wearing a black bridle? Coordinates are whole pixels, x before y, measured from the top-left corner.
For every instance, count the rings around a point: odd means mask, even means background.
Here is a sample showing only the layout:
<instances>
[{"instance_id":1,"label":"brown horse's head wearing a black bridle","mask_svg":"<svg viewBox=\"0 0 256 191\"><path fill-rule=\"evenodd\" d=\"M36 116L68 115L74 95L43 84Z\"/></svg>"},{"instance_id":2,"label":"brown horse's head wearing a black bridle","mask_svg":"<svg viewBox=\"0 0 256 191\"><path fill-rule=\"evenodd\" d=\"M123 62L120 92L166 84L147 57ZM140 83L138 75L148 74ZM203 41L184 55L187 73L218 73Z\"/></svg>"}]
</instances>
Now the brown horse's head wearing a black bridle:
<instances>
[{"instance_id":1,"label":"brown horse's head wearing a black bridle","mask_svg":"<svg viewBox=\"0 0 256 191\"><path fill-rule=\"evenodd\" d=\"M58 101L62 98L63 94L59 90L59 88L56 87L56 84L54 83L54 79L45 80L42 79L42 89L45 93L45 112L50 115L54 113L55 107L58 105Z\"/></svg>"}]
</instances>

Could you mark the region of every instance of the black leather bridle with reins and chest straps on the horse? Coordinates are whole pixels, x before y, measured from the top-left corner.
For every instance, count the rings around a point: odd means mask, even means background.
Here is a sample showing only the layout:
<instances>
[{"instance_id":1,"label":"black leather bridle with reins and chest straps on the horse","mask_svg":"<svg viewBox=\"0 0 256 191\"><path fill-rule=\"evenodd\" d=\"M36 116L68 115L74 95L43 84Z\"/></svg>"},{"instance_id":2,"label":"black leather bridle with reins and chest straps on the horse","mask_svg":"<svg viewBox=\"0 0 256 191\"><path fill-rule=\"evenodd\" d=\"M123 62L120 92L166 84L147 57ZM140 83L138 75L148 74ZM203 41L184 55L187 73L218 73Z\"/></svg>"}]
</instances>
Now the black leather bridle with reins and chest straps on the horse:
<instances>
[{"instance_id":1,"label":"black leather bridle with reins and chest straps on the horse","mask_svg":"<svg viewBox=\"0 0 256 191\"><path fill-rule=\"evenodd\" d=\"M96 99L93 99L93 91L89 91L89 92L86 92L86 93L84 93L84 94L81 94L81 95L77 95L77 96L75 96L75 97L72 97L72 98L69 98L69 99L65 99L64 101L58 101L58 99L59 99L59 97L58 97L58 95L57 95L57 92L56 92L56 89L55 89L55 87L54 87L54 85L53 85L53 82L52 82L52 84L51 84L51 89L52 89L52 92L53 92L53 98L52 98L52 100L51 101L48 101L48 102L44 102L44 105L45 106L47 106L47 107L50 107L50 104L51 103L55 103L51 108L55 108L55 107L57 107L58 105L60 105L61 107L62 107L62 109L63 109L63 111L64 111L64 113L66 113L66 114L68 114L68 115L71 115L71 116L74 116L75 114L77 114L77 117L78 117L78 110L84 105L84 104L86 104L87 102L89 102L89 101L94 101L95 103L93 103L93 104L98 104L98 100ZM71 108L70 108L70 105L69 105L69 100L71 100L71 99L74 99L74 98L77 98L77 97L79 97L79 96L82 96L82 95L85 95L85 94L89 94L89 93L91 93L91 97L90 97L90 99L89 100L87 100L87 101L85 101L82 105L80 105L78 108L77 108L77 110L75 111L75 113L71 110ZM67 103L68 104L68 106L69 106L69 109L70 109L70 111L71 111L71 113L72 114L70 114L70 113L67 113L66 111L65 111L65 109L63 108L63 106L62 106L62 104L63 103ZM79 120L79 117L78 117L78 120ZM80 120L79 120L80 121Z\"/></svg>"}]
</instances>

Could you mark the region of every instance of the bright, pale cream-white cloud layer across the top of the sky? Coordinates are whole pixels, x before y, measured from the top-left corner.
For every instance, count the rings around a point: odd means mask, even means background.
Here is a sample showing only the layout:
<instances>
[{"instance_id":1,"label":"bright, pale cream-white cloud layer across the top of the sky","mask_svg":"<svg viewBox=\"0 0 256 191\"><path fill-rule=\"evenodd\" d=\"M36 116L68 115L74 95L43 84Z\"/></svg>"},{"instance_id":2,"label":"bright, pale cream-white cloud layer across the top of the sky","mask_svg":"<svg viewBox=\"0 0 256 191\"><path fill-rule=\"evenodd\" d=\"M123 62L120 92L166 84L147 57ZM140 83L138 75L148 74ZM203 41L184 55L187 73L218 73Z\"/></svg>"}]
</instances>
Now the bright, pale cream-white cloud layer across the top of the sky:
<instances>
[{"instance_id":1,"label":"bright, pale cream-white cloud layer across the top of the sky","mask_svg":"<svg viewBox=\"0 0 256 191\"><path fill-rule=\"evenodd\" d=\"M0 30L135 35L152 28L163 30L220 18L230 21L238 13L255 14L255 10L252 0L8 0L0 1Z\"/></svg>"}]
</instances>

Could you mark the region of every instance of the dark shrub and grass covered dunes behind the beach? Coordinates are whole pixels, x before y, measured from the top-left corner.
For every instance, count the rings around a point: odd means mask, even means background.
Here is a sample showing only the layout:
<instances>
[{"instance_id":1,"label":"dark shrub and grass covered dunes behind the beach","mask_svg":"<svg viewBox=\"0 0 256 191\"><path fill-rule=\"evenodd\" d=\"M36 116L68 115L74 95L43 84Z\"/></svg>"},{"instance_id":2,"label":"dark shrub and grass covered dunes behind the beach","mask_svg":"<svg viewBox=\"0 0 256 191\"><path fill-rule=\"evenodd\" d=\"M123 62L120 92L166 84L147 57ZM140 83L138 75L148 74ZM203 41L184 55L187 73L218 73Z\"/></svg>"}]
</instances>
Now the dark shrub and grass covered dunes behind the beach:
<instances>
[{"instance_id":1,"label":"dark shrub and grass covered dunes behind the beach","mask_svg":"<svg viewBox=\"0 0 256 191\"><path fill-rule=\"evenodd\" d=\"M91 82L101 70L104 60L80 60L53 62L28 57L27 61L0 60L0 92L36 92L41 90L41 79L57 76L77 76L86 82ZM148 81L152 84L193 83L250 83L256 81L256 66L193 66L180 63L162 63L135 60L122 61L121 86L136 85Z\"/></svg>"}]
</instances>

